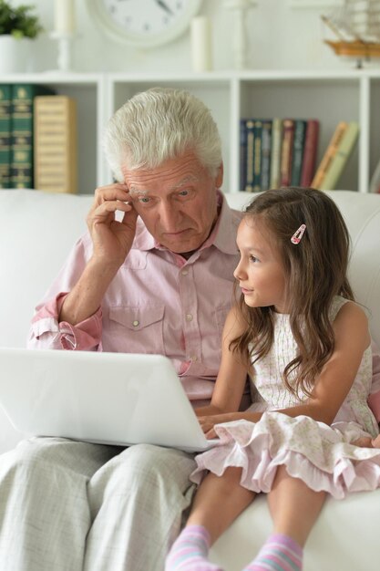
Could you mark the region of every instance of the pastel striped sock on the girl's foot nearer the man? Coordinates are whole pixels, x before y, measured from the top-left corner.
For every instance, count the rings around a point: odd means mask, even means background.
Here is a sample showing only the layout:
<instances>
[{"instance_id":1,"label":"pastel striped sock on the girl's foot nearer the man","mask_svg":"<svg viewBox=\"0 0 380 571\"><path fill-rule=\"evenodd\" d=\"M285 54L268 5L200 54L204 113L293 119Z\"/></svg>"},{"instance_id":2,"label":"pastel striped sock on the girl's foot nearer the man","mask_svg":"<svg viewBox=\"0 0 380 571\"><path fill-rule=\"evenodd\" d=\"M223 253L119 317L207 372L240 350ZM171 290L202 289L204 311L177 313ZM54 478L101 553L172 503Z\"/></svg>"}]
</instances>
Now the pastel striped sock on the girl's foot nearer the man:
<instances>
[{"instance_id":1,"label":"pastel striped sock on the girl's foot nearer the man","mask_svg":"<svg viewBox=\"0 0 380 571\"><path fill-rule=\"evenodd\" d=\"M221 571L209 563L210 534L202 525L185 527L171 546L165 571Z\"/></svg>"}]
</instances>

